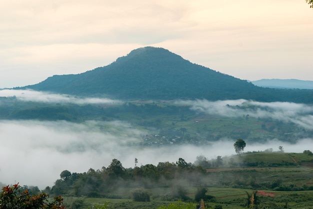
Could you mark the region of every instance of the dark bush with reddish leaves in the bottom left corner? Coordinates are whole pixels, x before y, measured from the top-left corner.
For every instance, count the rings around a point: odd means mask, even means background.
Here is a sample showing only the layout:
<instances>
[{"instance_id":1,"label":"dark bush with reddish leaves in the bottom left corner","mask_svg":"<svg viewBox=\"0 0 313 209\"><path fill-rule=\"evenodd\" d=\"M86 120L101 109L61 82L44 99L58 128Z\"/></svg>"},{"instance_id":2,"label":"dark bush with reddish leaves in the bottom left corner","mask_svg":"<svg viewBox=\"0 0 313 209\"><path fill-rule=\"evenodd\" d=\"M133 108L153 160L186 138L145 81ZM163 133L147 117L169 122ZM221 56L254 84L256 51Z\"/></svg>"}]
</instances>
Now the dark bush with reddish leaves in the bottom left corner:
<instances>
[{"instance_id":1,"label":"dark bush with reddish leaves in the bottom left corner","mask_svg":"<svg viewBox=\"0 0 313 209\"><path fill-rule=\"evenodd\" d=\"M54 197L52 201L48 201L46 193L30 195L28 190L21 190L21 186L14 184L13 186L3 186L0 193L1 209L64 209L63 197Z\"/></svg>"}]
</instances>

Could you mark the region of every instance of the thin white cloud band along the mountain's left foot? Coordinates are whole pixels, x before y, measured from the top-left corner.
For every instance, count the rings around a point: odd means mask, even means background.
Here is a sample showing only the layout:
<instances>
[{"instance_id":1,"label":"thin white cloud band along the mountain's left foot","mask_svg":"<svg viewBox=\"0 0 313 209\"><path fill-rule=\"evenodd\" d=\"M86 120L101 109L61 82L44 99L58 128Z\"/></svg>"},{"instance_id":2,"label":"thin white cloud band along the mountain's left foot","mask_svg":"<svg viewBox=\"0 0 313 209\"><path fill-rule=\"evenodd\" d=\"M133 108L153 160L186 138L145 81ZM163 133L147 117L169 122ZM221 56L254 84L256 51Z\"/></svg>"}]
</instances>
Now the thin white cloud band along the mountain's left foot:
<instances>
[{"instance_id":1,"label":"thin white cloud band along the mountain's left foot","mask_svg":"<svg viewBox=\"0 0 313 209\"><path fill-rule=\"evenodd\" d=\"M45 103L74 103L74 104L118 104L119 100L108 98L78 98L65 94L53 94L33 90L0 90L0 97L13 97L21 101L45 102Z\"/></svg>"}]
</instances>

